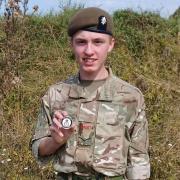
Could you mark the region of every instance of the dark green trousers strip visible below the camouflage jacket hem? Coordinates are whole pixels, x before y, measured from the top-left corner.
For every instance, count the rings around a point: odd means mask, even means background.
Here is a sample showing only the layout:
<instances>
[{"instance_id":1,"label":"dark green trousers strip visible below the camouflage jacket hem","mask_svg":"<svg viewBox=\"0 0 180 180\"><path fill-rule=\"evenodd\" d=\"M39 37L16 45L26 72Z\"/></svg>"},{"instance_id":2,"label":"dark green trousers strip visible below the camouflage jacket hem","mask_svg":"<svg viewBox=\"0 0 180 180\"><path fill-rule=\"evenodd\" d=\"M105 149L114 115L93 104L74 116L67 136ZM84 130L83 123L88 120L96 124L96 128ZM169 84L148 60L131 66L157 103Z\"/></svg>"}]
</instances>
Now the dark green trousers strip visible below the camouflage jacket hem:
<instances>
[{"instance_id":1,"label":"dark green trousers strip visible below the camouflage jacket hem","mask_svg":"<svg viewBox=\"0 0 180 180\"><path fill-rule=\"evenodd\" d=\"M56 179L57 180L124 180L124 177L123 176L107 177L102 174L86 177L86 176L79 176L76 174L59 173Z\"/></svg>"}]
</instances>

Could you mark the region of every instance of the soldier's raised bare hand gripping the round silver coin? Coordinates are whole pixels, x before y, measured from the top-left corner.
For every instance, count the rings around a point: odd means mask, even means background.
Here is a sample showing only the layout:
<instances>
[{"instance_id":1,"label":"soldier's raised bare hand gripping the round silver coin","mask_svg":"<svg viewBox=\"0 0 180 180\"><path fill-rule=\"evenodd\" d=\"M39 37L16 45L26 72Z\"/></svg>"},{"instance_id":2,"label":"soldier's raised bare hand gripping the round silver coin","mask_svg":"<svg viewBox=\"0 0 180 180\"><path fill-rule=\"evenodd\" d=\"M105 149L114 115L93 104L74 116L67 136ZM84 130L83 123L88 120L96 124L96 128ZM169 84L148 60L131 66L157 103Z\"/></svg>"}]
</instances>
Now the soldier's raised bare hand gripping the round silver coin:
<instances>
[{"instance_id":1,"label":"soldier's raised bare hand gripping the round silver coin","mask_svg":"<svg viewBox=\"0 0 180 180\"><path fill-rule=\"evenodd\" d=\"M56 111L53 117L53 123L50 126L51 136L58 144L64 144L74 131L74 124L69 129L64 129L61 122L68 114L65 111Z\"/></svg>"}]
</instances>

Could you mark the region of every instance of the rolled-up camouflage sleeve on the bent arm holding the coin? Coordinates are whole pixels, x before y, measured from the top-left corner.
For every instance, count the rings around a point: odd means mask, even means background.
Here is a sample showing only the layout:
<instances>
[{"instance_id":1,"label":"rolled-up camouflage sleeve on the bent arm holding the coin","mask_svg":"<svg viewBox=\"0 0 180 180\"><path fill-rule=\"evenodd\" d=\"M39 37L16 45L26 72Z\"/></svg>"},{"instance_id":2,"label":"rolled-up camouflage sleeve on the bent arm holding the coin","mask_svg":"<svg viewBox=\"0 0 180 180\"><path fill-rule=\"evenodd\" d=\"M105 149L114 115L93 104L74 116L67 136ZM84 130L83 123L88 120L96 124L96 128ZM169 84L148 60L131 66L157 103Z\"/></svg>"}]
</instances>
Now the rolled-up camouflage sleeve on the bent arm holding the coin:
<instances>
[{"instance_id":1,"label":"rolled-up camouflage sleeve on the bent arm holding the coin","mask_svg":"<svg viewBox=\"0 0 180 180\"><path fill-rule=\"evenodd\" d=\"M45 137L50 137L49 130L52 124L52 114L55 110L64 109L65 102L68 98L69 86L65 87L62 83L55 84L49 88L46 94L42 97L41 108L38 115L35 132L31 141L32 153L40 165L48 163L56 158L56 154L50 156L39 156L38 149L41 140Z\"/></svg>"}]
</instances>

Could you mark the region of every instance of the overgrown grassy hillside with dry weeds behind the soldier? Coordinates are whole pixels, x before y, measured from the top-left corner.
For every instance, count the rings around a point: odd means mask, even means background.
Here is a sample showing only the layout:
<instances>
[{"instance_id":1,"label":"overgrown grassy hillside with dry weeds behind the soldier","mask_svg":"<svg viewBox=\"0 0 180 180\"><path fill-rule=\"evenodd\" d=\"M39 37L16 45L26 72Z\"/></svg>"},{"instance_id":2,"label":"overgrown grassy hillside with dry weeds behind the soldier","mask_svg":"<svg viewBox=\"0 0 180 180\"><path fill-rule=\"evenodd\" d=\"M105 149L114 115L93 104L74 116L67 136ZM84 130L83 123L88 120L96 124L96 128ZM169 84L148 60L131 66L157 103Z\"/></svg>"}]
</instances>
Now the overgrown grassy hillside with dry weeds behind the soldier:
<instances>
[{"instance_id":1,"label":"overgrown grassy hillside with dry weeds behind the soldier","mask_svg":"<svg viewBox=\"0 0 180 180\"><path fill-rule=\"evenodd\" d=\"M66 29L78 8L39 16L34 7L32 15L7 11L0 18L0 179L54 178L50 166L37 165L29 142L40 97L77 72ZM179 12L169 19L131 10L113 14L116 45L107 64L144 94L152 180L180 177Z\"/></svg>"}]
</instances>

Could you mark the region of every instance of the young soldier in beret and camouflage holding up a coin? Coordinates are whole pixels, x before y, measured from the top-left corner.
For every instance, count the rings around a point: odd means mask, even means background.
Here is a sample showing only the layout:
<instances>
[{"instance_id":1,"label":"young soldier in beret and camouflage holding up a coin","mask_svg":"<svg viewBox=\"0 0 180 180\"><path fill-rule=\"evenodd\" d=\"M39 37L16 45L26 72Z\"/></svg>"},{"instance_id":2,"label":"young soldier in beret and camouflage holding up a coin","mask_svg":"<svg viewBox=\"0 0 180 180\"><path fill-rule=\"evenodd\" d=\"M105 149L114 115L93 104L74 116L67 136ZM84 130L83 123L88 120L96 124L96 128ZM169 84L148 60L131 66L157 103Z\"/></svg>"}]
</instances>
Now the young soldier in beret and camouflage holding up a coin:
<instances>
[{"instance_id":1,"label":"young soldier in beret and camouflage holding up a coin","mask_svg":"<svg viewBox=\"0 0 180 180\"><path fill-rule=\"evenodd\" d=\"M53 159L59 179L150 177L143 95L105 67L112 31L102 9L78 11L68 35L79 72L42 98L32 151L39 163Z\"/></svg>"}]
</instances>

